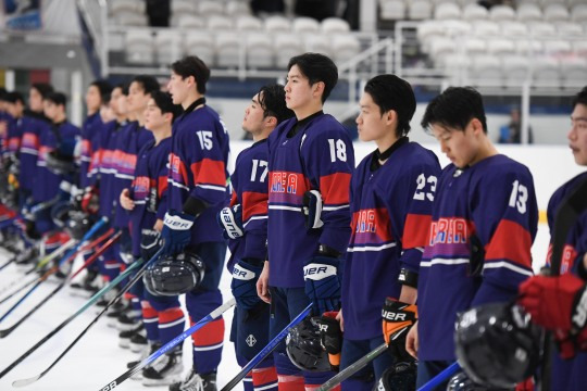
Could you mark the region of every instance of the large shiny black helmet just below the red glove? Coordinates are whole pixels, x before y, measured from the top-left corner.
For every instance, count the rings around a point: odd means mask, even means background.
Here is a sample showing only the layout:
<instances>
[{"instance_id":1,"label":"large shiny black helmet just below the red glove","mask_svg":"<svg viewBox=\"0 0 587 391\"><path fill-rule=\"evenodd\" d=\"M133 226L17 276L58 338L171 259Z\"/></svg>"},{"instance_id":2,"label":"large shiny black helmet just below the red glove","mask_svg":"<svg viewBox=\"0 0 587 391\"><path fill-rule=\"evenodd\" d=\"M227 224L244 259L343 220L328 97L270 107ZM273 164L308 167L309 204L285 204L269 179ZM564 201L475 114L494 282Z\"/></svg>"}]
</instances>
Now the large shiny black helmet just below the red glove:
<instances>
[{"instance_id":1,"label":"large shiny black helmet just below the red glove","mask_svg":"<svg viewBox=\"0 0 587 391\"><path fill-rule=\"evenodd\" d=\"M485 304L459 315L457 358L474 382L512 388L535 373L541 337L541 329L522 307Z\"/></svg>"}]
</instances>

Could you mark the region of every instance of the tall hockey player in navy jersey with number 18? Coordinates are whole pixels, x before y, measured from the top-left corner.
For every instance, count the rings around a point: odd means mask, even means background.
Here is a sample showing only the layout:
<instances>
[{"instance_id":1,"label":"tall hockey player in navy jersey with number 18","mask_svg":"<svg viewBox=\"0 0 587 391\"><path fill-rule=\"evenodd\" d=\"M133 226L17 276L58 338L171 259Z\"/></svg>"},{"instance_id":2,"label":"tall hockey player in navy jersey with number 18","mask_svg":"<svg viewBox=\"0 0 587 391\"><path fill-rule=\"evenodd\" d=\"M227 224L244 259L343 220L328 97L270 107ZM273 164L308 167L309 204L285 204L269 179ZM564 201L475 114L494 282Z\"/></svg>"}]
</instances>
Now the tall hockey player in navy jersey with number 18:
<instances>
[{"instance_id":1,"label":"tall hockey player in navy jersey with number 18","mask_svg":"<svg viewBox=\"0 0 587 391\"><path fill-rule=\"evenodd\" d=\"M323 54L289 61L286 104L296 117L268 138L268 260L257 283L261 299L272 303L270 338L311 302L319 316L339 308L354 152L348 131L322 110L337 80L336 65ZM274 358L279 390L313 390L332 377L302 373L284 344Z\"/></svg>"}]
</instances>

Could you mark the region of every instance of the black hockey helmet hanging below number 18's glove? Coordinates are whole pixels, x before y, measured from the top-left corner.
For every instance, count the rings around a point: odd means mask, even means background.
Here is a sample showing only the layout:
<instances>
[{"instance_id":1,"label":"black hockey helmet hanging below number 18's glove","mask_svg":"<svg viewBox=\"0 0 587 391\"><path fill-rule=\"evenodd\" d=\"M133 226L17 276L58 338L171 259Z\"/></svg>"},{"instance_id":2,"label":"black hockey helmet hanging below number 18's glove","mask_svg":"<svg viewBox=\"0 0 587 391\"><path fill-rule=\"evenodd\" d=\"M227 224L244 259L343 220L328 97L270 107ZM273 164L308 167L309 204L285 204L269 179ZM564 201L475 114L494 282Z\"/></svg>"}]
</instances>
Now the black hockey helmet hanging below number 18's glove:
<instances>
[{"instance_id":1,"label":"black hockey helmet hanging below number 18's glove","mask_svg":"<svg viewBox=\"0 0 587 391\"><path fill-rule=\"evenodd\" d=\"M286 351L291 363L308 371L328 371L328 353L320 342L320 317L305 318L295 326L286 339Z\"/></svg>"}]
</instances>

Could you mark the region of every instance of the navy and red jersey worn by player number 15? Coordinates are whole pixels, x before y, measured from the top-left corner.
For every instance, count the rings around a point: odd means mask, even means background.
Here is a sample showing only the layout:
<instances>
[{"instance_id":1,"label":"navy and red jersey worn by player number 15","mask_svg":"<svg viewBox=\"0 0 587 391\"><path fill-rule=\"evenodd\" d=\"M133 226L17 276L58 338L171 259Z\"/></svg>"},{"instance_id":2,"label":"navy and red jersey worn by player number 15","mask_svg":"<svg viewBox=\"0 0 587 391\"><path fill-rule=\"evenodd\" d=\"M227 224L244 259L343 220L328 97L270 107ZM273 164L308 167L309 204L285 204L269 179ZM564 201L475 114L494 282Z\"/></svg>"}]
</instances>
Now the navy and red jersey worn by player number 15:
<instances>
[{"instance_id":1,"label":"navy and red jersey worn by player number 15","mask_svg":"<svg viewBox=\"0 0 587 391\"><path fill-rule=\"evenodd\" d=\"M216 215L229 197L228 133L211 108L188 108L173 124L170 154L168 207L184 210L188 198L208 207L191 228L190 244L223 241Z\"/></svg>"}]
</instances>

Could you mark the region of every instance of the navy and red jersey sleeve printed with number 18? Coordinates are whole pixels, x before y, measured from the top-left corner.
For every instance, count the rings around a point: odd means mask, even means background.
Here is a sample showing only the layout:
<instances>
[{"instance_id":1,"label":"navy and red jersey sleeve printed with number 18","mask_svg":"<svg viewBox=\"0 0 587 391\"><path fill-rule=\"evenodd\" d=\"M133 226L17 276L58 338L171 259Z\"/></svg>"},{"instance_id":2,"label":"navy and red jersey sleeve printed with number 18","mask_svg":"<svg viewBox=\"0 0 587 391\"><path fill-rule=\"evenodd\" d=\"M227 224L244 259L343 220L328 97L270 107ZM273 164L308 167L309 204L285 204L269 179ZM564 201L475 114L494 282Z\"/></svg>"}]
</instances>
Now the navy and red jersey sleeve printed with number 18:
<instances>
[{"instance_id":1,"label":"navy and red jersey sleeve printed with number 18","mask_svg":"<svg viewBox=\"0 0 587 391\"><path fill-rule=\"evenodd\" d=\"M340 253L347 249L350 238L350 180L354 169L354 150L349 136L342 131L321 129L312 138L302 159L305 175L313 189L322 194L324 223L320 243Z\"/></svg>"}]
</instances>

